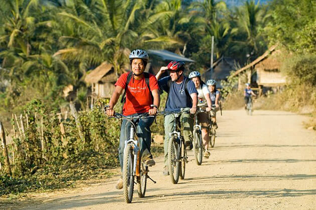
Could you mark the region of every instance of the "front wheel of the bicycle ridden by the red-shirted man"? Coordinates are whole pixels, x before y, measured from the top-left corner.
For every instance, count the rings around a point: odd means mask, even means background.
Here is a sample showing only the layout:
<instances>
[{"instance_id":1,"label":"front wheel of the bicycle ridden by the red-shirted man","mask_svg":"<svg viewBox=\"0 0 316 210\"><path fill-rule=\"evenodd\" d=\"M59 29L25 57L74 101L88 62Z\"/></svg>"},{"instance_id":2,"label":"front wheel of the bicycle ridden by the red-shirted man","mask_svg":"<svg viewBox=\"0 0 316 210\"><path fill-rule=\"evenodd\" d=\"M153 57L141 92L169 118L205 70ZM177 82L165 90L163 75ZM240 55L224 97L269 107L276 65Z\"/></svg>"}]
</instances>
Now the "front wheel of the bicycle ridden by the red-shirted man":
<instances>
[{"instance_id":1,"label":"front wheel of the bicycle ridden by the red-shirted man","mask_svg":"<svg viewBox=\"0 0 316 210\"><path fill-rule=\"evenodd\" d=\"M127 144L124 149L123 192L124 192L125 201L127 203L130 203L133 199L134 175L133 175L133 147L129 144Z\"/></svg>"}]
</instances>

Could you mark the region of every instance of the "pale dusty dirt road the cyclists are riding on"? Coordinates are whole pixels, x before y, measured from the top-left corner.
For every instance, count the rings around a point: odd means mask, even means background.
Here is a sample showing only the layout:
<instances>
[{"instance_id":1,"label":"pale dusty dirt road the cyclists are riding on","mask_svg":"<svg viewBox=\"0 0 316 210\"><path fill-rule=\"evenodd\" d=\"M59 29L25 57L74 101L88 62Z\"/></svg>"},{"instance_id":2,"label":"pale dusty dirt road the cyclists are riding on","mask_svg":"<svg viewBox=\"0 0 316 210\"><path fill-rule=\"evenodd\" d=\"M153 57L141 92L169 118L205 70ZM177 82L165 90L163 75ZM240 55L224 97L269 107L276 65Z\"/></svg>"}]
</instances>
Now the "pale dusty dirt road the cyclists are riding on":
<instances>
[{"instance_id":1,"label":"pale dusty dirt road the cyclists are riding on","mask_svg":"<svg viewBox=\"0 0 316 210\"><path fill-rule=\"evenodd\" d=\"M124 203L118 177L39 197L25 209L316 209L316 132L304 116L282 111L225 111L215 147L201 166L189 152L186 178L172 184L156 158L144 198ZM135 187L136 189L136 187Z\"/></svg>"}]
</instances>

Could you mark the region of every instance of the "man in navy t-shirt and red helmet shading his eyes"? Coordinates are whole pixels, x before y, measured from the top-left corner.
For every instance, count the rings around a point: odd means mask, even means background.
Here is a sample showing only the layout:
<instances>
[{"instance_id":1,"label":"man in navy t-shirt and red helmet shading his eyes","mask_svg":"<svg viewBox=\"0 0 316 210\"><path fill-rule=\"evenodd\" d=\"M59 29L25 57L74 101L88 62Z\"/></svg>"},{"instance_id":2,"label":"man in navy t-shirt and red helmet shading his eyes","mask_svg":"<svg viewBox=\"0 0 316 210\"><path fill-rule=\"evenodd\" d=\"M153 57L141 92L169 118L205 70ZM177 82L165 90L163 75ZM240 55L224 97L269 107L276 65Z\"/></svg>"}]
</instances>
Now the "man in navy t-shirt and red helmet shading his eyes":
<instances>
[{"instance_id":1,"label":"man in navy t-shirt and red helmet shading his eyes","mask_svg":"<svg viewBox=\"0 0 316 210\"><path fill-rule=\"evenodd\" d=\"M198 91L191 79L184 76L184 62L171 61L168 66L162 66L159 72L156 74L156 78L159 79L162 73L166 70L170 75L158 80L158 85L161 90L165 90L168 93L166 102L166 111L178 112L181 108L191 107L190 113L182 113L181 121L183 123L183 135L185 139L186 149L192 149L193 140L193 125L194 125L194 113L197 111L198 104ZM165 116L165 167L164 175L169 175L168 171L168 145L169 145L169 133L173 132L174 115L168 114Z\"/></svg>"}]
</instances>

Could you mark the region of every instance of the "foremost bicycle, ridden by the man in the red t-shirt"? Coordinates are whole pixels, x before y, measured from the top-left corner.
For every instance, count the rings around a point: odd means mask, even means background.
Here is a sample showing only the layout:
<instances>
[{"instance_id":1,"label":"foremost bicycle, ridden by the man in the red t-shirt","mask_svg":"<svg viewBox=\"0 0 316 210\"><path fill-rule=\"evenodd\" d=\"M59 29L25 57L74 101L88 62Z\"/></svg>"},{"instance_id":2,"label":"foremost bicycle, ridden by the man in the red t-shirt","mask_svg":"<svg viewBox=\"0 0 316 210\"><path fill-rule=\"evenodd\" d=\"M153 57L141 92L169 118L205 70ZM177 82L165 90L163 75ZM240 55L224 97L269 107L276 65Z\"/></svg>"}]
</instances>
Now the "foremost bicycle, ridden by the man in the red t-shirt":
<instances>
[{"instance_id":1,"label":"foremost bicycle, ridden by the man in the red t-shirt","mask_svg":"<svg viewBox=\"0 0 316 210\"><path fill-rule=\"evenodd\" d=\"M105 106L106 108L108 106ZM141 160L139 142L135 138L136 125L139 119L146 117L154 117L148 113L142 113L138 116L124 116L120 113L115 113L113 116L116 119L127 119L126 125L128 122L132 124L130 127L129 139L125 141L124 147L124 158L123 158L123 192L124 199L127 203L130 203L133 199L134 192L134 178L136 176L137 184L137 194L138 197L144 197L146 192L147 178L149 178L153 183L156 181L152 180L148 175L148 165ZM126 133L126 132L125 132Z\"/></svg>"}]
</instances>

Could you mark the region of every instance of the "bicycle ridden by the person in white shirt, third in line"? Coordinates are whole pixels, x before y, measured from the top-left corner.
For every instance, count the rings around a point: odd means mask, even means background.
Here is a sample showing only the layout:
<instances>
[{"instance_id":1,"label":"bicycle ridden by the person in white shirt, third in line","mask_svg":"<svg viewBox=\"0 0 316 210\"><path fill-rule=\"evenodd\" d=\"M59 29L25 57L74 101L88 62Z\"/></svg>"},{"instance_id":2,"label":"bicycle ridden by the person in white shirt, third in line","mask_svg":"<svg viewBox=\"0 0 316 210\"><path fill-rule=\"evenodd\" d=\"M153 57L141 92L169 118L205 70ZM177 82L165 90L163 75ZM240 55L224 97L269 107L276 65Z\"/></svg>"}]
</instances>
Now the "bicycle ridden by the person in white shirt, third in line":
<instances>
[{"instance_id":1,"label":"bicycle ridden by the person in white shirt, third in line","mask_svg":"<svg viewBox=\"0 0 316 210\"><path fill-rule=\"evenodd\" d=\"M199 124L198 114L206 110L200 108L195 114L195 125L193 126L193 152L197 165L202 164L204 146L202 142L201 125Z\"/></svg>"}]
</instances>

